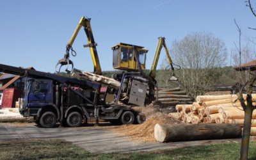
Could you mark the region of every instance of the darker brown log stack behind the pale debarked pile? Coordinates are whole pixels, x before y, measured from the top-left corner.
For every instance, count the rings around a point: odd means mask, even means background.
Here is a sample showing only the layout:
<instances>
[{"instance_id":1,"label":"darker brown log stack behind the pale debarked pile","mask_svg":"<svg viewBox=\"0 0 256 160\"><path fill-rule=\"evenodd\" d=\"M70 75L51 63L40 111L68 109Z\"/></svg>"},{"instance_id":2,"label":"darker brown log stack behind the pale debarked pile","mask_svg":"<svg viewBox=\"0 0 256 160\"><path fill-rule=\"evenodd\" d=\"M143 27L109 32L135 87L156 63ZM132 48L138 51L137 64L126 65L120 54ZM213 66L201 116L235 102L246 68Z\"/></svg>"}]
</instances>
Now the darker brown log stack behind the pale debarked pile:
<instances>
[{"instance_id":1,"label":"darker brown log stack behind the pale debarked pile","mask_svg":"<svg viewBox=\"0 0 256 160\"><path fill-rule=\"evenodd\" d=\"M175 111L177 104L192 104L191 98L186 95L186 92L177 88L161 88L158 91L156 104L160 106L165 113Z\"/></svg>"}]
</instances>

